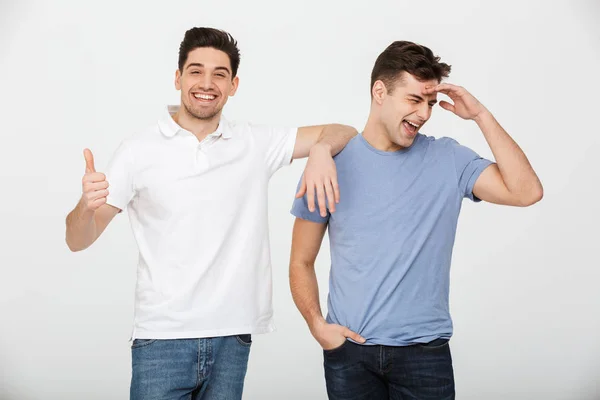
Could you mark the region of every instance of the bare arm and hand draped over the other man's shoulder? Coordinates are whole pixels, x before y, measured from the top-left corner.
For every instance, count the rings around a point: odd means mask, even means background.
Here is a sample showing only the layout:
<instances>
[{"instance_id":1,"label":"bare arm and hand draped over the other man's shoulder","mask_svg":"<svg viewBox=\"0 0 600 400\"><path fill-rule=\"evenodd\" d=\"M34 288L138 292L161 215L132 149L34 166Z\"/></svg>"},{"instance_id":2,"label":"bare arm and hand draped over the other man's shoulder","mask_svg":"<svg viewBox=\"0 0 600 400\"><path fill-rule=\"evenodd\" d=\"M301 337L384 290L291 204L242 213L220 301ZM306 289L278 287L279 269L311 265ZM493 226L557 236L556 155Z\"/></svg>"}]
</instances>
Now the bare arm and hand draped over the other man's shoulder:
<instances>
[{"instance_id":1,"label":"bare arm and hand draped over the other man's shoulder","mask_svg":"<svg viewBox=\"0 0 600 400\"><path fill-rule=\"evenodd\" d=\"M340 190L333 156L342 151L357 133L353 127L340 124L298 128L293 158L308 157L308 161L296 198L306 194L311 212L315 210L315 194L322 217L327 215L327 203L329 211L335 212Z\"/></svg>"}]
</instances>

